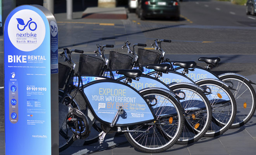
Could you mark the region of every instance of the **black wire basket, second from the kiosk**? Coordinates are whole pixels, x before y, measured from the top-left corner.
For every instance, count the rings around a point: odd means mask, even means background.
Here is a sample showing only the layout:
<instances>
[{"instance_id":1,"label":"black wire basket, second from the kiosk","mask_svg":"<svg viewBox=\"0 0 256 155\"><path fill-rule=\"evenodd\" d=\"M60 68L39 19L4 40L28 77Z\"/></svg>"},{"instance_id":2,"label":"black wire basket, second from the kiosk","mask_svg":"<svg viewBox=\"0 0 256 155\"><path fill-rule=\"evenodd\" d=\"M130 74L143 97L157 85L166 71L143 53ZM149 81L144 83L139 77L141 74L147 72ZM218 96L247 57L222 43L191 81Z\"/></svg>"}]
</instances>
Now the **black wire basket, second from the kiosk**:
<instances>
[{"instance_id":1,"label":"black wire basket, second from the kiosk","mask_svg":"<svg viewBox=\"0 0 256 155\"><path fill-rule=\"evenodd\" d=\"M81 74L102 75L103 60L85 54L80 55L78 71Z\"/></svg>"}]
</instances>

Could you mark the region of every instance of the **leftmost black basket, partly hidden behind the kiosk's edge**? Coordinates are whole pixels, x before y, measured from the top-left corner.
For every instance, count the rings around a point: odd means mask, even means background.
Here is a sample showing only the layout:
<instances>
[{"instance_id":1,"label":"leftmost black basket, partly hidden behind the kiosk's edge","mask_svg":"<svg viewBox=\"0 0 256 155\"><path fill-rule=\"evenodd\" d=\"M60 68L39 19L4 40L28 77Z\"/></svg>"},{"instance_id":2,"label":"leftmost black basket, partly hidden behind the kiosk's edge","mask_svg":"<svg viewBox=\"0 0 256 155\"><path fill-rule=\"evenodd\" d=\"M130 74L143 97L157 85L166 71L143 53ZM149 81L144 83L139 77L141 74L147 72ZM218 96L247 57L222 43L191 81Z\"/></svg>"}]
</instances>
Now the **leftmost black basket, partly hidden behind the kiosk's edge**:
<instances>
[{"instance_id":1,"label":"leftmost black basket, partly hidden behind the kiosk's edge","mask_svg":"<svg viewBox=\"0 0 256 155\"><path fill-rule=\"evenodd\" d=\"M58 64L59 67L59 88L63 88L64 84L66 83L67 77L71 68L67 65L63 65L61 63Z\"/></svg>"}]
</instances>

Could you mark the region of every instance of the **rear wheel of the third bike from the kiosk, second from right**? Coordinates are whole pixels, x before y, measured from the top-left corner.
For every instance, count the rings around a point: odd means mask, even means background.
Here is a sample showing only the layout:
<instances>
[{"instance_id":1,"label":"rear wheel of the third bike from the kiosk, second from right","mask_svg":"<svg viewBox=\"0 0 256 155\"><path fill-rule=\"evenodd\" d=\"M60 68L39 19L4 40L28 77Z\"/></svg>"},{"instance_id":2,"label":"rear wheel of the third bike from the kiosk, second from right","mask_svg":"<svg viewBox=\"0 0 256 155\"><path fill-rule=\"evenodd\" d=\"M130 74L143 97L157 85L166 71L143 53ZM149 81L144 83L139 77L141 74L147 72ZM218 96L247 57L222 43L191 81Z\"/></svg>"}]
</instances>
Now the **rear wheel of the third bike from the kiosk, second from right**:
<instances>
[{"instance_id":1,"label":"rear wheel of the third bike from the kiosk, second from right","mask_svg":"<svg viewBox=\"0 0 256 155\"><path fill-rule=\"evenodd\" d=\"M217 81L205 80L197 83L211 93L206 95L212 107L211 125L205 137L219 136L233 124L237 112L235 98L227 86ZM225 113L225 114L224 114Z\"/></svg>"}]
</instances>

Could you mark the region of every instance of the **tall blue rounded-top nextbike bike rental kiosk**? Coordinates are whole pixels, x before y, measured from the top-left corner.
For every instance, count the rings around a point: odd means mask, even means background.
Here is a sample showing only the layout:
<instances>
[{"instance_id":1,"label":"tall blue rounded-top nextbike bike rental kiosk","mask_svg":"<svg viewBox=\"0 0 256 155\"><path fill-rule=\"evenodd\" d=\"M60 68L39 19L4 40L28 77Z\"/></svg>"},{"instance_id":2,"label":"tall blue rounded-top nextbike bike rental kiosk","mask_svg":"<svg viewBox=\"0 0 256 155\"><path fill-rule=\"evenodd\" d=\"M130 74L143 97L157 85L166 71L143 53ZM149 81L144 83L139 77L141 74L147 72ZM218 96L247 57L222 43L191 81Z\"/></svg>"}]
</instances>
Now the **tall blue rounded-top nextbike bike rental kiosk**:
<instances>
[{"instance_id":1,"label":"tall blue rounded-top nextbike bike rental kiosk","mask_svg":"<svg viewBox=\"0 0 256 155\"><path fill-rule=\"evenodd\" d=\"M4 25L5 154L59 154L58 28L40 5L22 5Z\"/></svg>"}]
</instances>

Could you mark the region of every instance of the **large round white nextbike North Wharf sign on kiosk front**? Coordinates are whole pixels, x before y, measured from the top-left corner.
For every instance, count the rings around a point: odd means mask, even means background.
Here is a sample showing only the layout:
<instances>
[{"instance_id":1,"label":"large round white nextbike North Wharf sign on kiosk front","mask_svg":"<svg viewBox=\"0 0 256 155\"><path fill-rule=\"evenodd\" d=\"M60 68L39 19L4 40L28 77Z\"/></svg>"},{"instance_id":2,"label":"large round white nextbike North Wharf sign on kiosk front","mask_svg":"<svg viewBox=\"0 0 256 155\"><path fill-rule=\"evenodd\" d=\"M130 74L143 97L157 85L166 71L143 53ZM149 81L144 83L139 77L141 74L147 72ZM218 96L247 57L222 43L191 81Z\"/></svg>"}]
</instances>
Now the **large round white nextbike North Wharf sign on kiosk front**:
<instances>
[{"instance_id":1,"label":"large round white nextbike North Wharf sign on kiosk front","mask_svg":"<svg viewBox=\"0 0 256 155\"><path fill-rule=\"evenodd\" d=\"M45 24L42 17L33 10L16 12L8 24L8 36L12 45L19 50L35 50L45 38Z\"/></svg>"}]
</instances>

